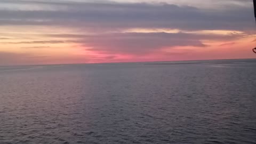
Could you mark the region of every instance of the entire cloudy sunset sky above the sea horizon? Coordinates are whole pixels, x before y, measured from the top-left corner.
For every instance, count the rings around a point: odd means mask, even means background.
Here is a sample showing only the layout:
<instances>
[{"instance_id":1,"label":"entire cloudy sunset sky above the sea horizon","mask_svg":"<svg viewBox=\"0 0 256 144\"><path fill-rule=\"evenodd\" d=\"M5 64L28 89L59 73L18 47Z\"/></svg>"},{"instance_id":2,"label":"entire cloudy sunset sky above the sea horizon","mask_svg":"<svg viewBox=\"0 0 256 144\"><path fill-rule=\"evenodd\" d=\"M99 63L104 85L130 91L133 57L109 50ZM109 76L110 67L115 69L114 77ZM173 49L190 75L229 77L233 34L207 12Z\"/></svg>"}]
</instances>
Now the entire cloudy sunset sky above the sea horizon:
<instances>
[{"instance_id":1,"label":"entire cloudy sunset sky above the sea horizon","mask_svg":"<svg viewBox=\"0 0 256 144\"><path fill-rule=\"evenodd\" d=\"M0 0L0 65L256 58L252 0Z\"/></svg>"}]
</instances>

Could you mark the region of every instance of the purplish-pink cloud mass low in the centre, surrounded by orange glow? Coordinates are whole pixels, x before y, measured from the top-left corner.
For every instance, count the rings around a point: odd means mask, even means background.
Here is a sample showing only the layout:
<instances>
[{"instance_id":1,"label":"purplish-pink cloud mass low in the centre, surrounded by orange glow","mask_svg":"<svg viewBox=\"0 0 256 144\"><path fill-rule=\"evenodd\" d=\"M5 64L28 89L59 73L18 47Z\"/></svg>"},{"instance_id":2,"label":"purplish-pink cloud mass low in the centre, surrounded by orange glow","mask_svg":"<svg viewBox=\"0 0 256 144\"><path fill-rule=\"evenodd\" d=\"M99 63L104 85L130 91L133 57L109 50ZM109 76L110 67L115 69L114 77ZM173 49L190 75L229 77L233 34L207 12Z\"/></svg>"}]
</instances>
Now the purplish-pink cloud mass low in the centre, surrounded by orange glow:
<instances>
[{"instance_id":1,"label":"purplish-pink cloud mass low in the centre, surrounded by orange glow","mask_svg":"<svg viewBox=\"0 0 256 144\"><path fill-rule=\"evenodd\" d=\"M109 54L147 54L157 52L164 47L197 46L205 47L198 39L186 39L183 34L166 33L127 33L92 36L83 39L84 46L92 47L90 51Z\"/></svg>"}]
</instances>

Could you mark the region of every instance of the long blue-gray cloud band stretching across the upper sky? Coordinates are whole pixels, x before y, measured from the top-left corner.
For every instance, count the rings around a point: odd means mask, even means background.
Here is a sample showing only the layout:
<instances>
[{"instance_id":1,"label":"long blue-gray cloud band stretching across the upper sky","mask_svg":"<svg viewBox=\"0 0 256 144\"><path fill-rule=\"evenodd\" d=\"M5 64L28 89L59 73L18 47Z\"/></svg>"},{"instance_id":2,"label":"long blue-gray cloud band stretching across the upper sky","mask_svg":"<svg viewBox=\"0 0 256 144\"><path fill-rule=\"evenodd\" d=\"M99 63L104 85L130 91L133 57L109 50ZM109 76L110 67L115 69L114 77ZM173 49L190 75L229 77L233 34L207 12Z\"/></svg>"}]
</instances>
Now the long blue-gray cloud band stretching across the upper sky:
<instances>
[{"instance_id":1,"label":"long blue-gray cloud band stretching across the upper sky","mask_svg":"<svg viewBox=\"0 0 256 144\"><path fill-rule=\"evenodd\" d=\"M253 10L236 5L233 5L234 9L216 11L166 3L153 5L41 2L38 4L55 6L56 9L54 11L1 10L0 25L58 25L101 30L133 27L249 30L254 27Z\"/></svg>"}]
</instances>

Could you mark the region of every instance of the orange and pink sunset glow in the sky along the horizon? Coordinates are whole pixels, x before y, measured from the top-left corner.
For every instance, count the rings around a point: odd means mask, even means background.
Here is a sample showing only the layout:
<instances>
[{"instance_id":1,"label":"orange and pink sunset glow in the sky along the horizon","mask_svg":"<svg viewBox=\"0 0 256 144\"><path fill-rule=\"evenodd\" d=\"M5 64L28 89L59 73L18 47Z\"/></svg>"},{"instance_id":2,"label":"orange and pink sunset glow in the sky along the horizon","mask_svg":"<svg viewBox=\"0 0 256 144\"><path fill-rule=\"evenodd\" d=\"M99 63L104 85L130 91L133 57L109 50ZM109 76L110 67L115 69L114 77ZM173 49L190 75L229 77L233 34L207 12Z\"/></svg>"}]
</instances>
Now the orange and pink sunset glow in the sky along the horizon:
<instances>
[{"instance_id":1,"label":"orange and pink sunset glow in the sky along the horizon","mask_svg":"<svg viewBox=\"0 0 256 144\"><path fill-rule=\"evenodd\" d=\"M1 26L2 27L2 26ZM70 29L54 29L47 27L13 27L4 26L0 33L5 38L0 39L0 54L10 54L12 61L21 64L52 64L52 63L105 63L105 62L135 62L135 61L172 61L172 60L199 60L199 59L239 59L255 58L251 52L255 44L254 36L245 35L242 38L231 41L218 41L204 39L201 42L205 47L174 46L159 47L151 53L129 54L120 52L94 51L94 47L86 47L86 44L77 43L79 37L61 37L65 33L81 35L82 32ZM29 33L22 33L23 28L29 29ZM37 31L38 30L38 31ZM181 33L179 29L128 29L124 33ZM50 34L54 34L49 37ZM207 35L243 35L242 31L230 30L202 30L183 31L182 33L207 34ZM84 32L86 34L86 31ZM55 36L56 35L56 36ZM77 42L76 42L77 41ZM51 43L52 42L52 43ZM100 42L99 42L100 43ZM111 47L108 47L111 49ZM15 55L15 56L13 56ZM3 58L2 58L3 59ZM0 65L8 62L2 60ZM0 59L1 60L1 59ZM16 64L16 63L12 63Z\"/></svg>"}]
</instances>

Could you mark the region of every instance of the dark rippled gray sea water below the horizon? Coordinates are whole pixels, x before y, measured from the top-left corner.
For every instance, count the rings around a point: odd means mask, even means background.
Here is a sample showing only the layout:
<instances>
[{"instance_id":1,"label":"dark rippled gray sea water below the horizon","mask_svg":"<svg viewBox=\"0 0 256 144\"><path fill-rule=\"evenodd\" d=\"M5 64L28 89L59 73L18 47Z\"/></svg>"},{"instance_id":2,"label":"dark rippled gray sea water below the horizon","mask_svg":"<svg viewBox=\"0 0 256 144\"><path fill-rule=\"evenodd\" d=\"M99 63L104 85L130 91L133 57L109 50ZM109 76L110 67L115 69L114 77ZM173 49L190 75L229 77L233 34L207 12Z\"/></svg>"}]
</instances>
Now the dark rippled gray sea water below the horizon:
<instances>
[{"instance_id":1,"label":"dark rippled gray sea water below the horizon","mask_svg":"<svg viewBox=\"0 0 256 144\"><path fill-rule=\"evenodd\" d=\"M0 67L0 143L256 143L256 60Z\"/></svg>"}]
</instances>

